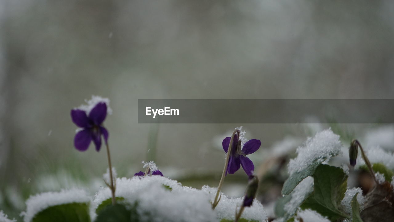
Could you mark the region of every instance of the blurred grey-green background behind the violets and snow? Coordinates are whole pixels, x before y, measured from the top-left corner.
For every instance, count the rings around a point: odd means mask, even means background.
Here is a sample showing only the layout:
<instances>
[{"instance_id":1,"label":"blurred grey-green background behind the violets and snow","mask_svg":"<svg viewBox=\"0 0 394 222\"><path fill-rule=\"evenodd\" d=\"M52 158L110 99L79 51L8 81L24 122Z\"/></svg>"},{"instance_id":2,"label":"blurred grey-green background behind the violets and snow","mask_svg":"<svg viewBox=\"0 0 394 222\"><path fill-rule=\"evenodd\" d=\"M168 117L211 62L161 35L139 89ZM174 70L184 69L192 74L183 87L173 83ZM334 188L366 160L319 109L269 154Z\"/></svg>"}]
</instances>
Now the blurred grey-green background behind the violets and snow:
<instances>
[{"instance_id":1,"label":"blurred grey-green background behind the violets and snow","mask_svg":"<svg viewBox=\"0 0 394 222\"><path fill-rule=\"evenodd\" d=\"M0 0L0 209L18 218L31 194L104 186L106 153L73 147L70 110L92 94L111 100L119 177L154 160L195 188L217 186L237 126L138 124L138 99L394 98L393 11L390 0ZM243 125L262 141L250 158L269 215L288 159L328 127L345 147L394 147L392 125ZM241 169L224 192L246 183Z\"/></svg>"}]
</instances>

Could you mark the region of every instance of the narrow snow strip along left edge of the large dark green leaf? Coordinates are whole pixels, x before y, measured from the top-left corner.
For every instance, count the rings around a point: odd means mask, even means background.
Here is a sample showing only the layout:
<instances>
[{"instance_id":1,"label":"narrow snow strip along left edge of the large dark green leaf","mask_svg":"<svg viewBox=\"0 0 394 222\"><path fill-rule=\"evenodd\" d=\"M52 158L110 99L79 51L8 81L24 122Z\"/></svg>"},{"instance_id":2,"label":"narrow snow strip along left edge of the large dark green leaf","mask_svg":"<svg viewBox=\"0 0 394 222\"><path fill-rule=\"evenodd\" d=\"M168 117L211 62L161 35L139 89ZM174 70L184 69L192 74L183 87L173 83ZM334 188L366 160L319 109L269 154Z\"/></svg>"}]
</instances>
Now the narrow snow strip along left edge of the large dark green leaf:
<instances>
[{"instance_id":1,"label":"narrow snow strip along left edge of the large dark green leaf","mask_svg":"<svg viewBox=\"0 0 394 222\"><path fill-rule=\"evenodd\" d=\"M313 190L313 177L309 176L301 181L292 192L292 199L284 205L284 210L289 214L295 214L297 207L305 200Z\"/></svg>"}]
</instances>

